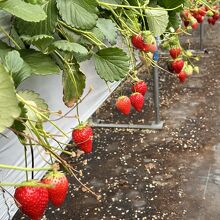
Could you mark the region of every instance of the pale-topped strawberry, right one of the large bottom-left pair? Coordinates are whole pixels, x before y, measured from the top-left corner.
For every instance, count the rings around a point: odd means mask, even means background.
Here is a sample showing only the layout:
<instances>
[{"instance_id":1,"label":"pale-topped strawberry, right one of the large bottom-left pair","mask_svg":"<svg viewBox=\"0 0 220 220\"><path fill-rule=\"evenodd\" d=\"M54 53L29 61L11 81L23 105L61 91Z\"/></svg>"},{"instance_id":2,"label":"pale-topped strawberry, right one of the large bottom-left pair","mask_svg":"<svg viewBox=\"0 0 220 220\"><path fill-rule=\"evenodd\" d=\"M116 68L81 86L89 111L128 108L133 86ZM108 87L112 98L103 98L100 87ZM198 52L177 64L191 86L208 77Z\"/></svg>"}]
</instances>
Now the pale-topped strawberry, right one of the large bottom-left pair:
<instances>
[{"instance_id":1,"label":"pale-topped strawberry, right one of the large bottom-left pair","mask_svg":"<svg viewBox=\"0 0 220 220\"><path fill-rule=\"evenodd\" d=\"M61 206L66 198L69 186L66 176L58 171L50 172L43 178L42 183L53 186L48 188L49 199L54 206Z\"/></svg>"}]
</instances>

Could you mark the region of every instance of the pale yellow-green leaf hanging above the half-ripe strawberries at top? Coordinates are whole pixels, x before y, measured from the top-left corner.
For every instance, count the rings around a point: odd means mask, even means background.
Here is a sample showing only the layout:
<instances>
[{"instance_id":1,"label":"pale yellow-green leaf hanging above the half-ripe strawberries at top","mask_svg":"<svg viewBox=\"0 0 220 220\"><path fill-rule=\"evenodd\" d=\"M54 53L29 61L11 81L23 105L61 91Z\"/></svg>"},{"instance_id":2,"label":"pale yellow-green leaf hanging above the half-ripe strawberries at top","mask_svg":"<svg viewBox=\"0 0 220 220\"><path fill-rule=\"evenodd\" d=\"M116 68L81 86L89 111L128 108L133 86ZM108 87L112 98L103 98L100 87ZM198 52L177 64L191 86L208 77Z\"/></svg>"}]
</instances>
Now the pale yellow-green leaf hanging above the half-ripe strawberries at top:
<instances>
[{"instance_id":1,"label":"pale yellow-green leaf hanging above the half-ripe strawberries at top","mask_svg":"<svg viewBox=\"0 0 220 220\"><path fill-rule=\"evenodd\" d=\"M145 14L147 17L147 23L149 30L154 36L162 35L169 23L169 16L164 8L146 9Z\"/></svg>"}]
</instances>

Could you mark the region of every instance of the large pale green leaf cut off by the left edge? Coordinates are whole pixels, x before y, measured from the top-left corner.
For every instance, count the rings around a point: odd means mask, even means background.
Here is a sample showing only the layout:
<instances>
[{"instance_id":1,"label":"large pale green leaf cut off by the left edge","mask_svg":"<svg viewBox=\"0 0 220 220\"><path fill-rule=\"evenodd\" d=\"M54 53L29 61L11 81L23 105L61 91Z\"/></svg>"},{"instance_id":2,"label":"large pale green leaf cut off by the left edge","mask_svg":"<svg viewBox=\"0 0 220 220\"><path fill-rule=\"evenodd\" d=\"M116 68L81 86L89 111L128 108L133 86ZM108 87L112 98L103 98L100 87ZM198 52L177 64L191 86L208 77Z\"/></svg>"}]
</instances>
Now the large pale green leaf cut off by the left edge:
<instances>
[{"instance_id":1,"label":"large pale green leaf cut off by the left edge","mask_svg":"<svg viewBox=\"0 0 220 220\"><path fill-rule=\"evenodd\" d=\"M20 112L14 83L5 68L0 65L0 132L10 127Z\"/></svg>"}]
</instances>

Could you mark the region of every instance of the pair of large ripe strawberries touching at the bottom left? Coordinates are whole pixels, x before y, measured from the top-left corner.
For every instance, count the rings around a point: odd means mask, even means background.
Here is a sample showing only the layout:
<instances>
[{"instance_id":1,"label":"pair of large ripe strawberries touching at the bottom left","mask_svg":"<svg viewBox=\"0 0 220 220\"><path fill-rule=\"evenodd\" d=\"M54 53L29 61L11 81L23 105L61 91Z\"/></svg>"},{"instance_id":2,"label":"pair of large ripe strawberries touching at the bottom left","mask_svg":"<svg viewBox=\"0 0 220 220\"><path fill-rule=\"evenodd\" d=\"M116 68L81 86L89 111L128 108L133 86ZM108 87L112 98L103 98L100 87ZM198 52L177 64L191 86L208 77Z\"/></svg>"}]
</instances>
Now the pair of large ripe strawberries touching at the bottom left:
<instances>
[{"instance_id":1,"label":"pair of large ripe strawberries touching at the bottom left","mask_svg":"<svg viewBox=\"0 0 220 220\"><path fill-rule=\"evenodd\" d=\"M32 220L40 220L49 201L60 207L68 193L69 182L65 174L59 171L48 173L41 181L31 180L17 187L14 198L22 213ZM34 184L48 184L50 187L33 186Z\"/></svg>"}]
</instances>

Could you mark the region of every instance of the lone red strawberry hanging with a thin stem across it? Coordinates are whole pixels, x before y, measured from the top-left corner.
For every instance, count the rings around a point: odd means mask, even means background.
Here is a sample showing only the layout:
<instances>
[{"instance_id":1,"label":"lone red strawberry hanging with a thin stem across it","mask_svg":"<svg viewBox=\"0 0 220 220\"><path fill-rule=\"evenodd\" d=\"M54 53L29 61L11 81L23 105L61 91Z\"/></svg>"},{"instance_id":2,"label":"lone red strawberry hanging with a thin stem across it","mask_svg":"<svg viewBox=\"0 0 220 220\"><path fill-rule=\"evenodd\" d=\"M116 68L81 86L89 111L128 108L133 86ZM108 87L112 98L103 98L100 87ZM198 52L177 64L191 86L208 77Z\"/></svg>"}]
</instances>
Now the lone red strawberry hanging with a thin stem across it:
<instances>
[{"instance_id":1,"label":"lone red strawberry hanging with a thin stem across it","mask_svg":"<svg viewBox=\"0 0 220 220\"><path fill-rule=\"evenodd\" d=\"M92 151L92 138L92 128L89 125L79 125L72 132L72 140L85 153Z\"/></svg>"}]
</instances>

